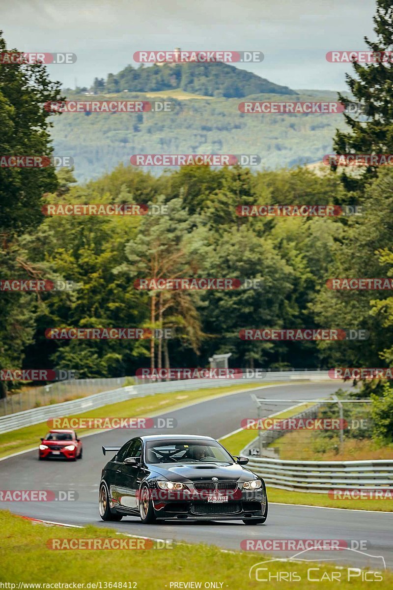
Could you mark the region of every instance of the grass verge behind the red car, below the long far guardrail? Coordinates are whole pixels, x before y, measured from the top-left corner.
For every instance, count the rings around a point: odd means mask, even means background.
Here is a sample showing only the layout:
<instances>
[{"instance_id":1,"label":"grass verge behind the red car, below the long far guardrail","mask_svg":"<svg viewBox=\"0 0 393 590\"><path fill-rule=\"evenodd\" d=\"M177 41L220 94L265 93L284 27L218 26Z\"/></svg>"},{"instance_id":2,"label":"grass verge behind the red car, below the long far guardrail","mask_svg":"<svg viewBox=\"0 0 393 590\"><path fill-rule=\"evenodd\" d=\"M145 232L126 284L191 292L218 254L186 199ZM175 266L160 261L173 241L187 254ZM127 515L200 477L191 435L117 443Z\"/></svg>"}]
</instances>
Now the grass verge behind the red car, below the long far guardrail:
<instances>
[{"instance_id":1,"label":"grass verge behind the red car, below the long far guardrail","mask_svg":"<svg viewBox=\"0 0 393 590\"><path fill-rule=\"evenodd\" d=\"M263 386L265 385L271 385L271 383L263 383ZM163 412L166 412L168 409L181 408L193 404L194 402L202 401L202 399L228 395L260 386L260 383L254 386L246 386L245 383L242 383L242 385L231 385L222 388L213 387L207 389L195 389L193 391L177 391L168 394L146 395L143 398L133 398L125 402L106 405L91 410L90 412L84 412L83 414L73 414L70 417L152 417L156 414L163 414ZM27 426L0 434L0 457L6 457L6 455L18 453L18 451L30 448L38 448L39 439L43 437L47 431L47 423L41 422L41 424L35 424L33 426ZM87 432L92 432L92 430L85 429L78 430L77 432L78 435L82 435Z\"/></svg>"}]
</instances>

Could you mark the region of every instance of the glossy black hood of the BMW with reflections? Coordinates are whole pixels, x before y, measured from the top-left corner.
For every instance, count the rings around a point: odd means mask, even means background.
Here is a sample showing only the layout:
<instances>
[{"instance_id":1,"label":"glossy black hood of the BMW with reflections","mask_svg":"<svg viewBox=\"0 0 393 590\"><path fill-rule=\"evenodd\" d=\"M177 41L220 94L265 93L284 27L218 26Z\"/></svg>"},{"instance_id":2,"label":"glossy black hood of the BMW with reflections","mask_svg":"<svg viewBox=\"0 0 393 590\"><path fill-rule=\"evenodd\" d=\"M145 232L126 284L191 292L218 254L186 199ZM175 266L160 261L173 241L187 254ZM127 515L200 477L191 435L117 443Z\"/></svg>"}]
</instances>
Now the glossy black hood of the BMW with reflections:
<instances>
[{"instance_id":1,"label":"glossy black hood of the BMW with reflections","mask_svg":"<svg viewBox=\"0 0 393 590\"><path fill-rule=\"evenodd\" d=\"M170 481L210 481L213 477L219 480L227 481L249 481L255 479L255 476L248 469L243 468L237 463L226 466L216 463L186 464L179 463L176 465L151 464L149 466L154 475L163 476Z\"/></svg>"}]
</instances>

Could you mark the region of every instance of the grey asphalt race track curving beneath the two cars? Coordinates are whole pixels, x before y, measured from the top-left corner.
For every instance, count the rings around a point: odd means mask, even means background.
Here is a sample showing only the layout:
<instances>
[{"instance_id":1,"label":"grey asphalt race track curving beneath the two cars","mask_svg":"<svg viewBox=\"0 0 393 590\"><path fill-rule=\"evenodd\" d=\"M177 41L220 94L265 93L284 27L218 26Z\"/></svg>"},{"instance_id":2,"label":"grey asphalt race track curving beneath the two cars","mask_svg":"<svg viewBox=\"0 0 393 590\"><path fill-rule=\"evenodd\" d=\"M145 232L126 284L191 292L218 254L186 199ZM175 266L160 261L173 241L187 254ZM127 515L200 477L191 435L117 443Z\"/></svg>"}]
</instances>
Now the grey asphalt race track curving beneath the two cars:
<instances>
[{"instance_id":1,"label":"grey asphalt race track curving beneath the two cars","mask_svg":"<svg viewBox=\"0 0 393 590\"><path fill-rule=\"evenodd\" d=\"M265 388L260 396L269 398L269 413L295 404L293 399L323 398L340 385L335 383L302 383ZM288 399L288 404L274 404L274 399ZM104 411L103 411L104 415ZM206 400L192 406L162 414L176 418L177 427L170 434L202 434L214 438L237 430L240 420L256 416L250 393L232 394ZM160 430L143 430L139 434L161 434ZM44 436L45 432L42 432ZM83 438L81 461L38 461L38 451L29 451L0 461L0 487L2 490L75 490L77 501L64 502L0 502L0 508L16 514L71 525L91 523L113 527L129 535L184 542L212 543L224 549L240 550L242 539L342 539L365 540L363 552L319 551L307 552L302 559L332 559L342 565L357 567L393 568L393 513L361 512L308 506L269 504L266 525L246 526L238 522L168 522L160 525L141 525L140 520L126 517L119 523L104 523L98 514L98 485L101 469L108 458L101 445L122 445L137 430L111 430ZM37 441L38 448L39 440ZM388 501L388 500L387 500ZM265 552L266 553L266 552ZM365 555L368 553L370 556ZM323 554L323 555L321 555ZM294 552L272 552L273 558L293 556ZM250 564L251 565L251 564Z\"/></svg>"}]
</instances>

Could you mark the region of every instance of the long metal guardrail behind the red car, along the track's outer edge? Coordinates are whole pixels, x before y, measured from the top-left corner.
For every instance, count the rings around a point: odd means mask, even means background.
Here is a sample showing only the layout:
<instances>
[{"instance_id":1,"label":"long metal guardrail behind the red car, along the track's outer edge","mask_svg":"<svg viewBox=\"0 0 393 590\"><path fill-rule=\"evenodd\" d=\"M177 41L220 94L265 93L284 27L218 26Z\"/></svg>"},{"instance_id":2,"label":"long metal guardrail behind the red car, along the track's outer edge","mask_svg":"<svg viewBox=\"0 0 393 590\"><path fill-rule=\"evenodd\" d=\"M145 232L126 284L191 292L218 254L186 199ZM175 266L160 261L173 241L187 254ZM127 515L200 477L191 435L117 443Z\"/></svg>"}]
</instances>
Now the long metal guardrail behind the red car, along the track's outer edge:
<instances>
[{"instance_id":1,"label":"long metal guardrail behind the red car, along the track's outer edge","mask_svg":"<svg viewBox=\"0 0 393 590\"><path fill-rule=\"evenodd\" d=\"M61 418L73 414L81 414L91 409L100 408L107 404L114 404L127 399L143 397L160 393L177 391L191 391L193 389L224 387L229 385L241 385L245 387L252 383L263 382L288 382L288 381L323 381L328 379L328 371L272 371L267 372L265 378L247 379L184 379L181 381L166 381L160 383L148 383L145 385L131 385L103 391L99 394L89 395L84 398L74 399L61 404L52 404L41 408L28 409L0 417L0 434L10 432L45 422L50 418Z\"/></svg>"}]
</instances>

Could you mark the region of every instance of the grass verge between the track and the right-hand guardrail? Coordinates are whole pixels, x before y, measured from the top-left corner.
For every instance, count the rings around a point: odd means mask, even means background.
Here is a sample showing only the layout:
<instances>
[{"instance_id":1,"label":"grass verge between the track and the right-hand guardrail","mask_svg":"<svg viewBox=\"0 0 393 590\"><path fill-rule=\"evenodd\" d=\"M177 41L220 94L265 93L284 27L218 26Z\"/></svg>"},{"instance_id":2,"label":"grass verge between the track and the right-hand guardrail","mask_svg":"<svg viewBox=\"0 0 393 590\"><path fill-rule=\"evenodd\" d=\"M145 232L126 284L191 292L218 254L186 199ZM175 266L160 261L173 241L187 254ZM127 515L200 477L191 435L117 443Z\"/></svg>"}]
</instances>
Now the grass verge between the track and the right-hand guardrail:
<instances>
[{"instance_id":1,"label":"grass verge between the track and the right-hand guardrail","mask_svg":"<svg viewBox=\"0 0 393 590\"><path fill-rule=\"evenodd\" d=\"M307 407L312 404L304 404ZM276 414L276 418L290 418L298 414L299 408L285 410ZM220 438L220 442L232 454L239 455L240 451L252 442L257 435L257 431L241 430ZM280 490L279 488L266 486L267 495L270 502L282 504L308 504L309 506L325 506L328 508L345 508L352 510L375 510L375 512L393 512L393 500L335 500L326 494L315 494L312 492Z\"/></svg>"}]
</instances>

